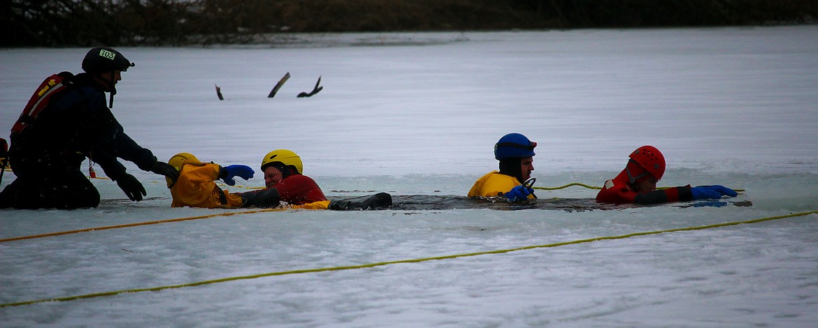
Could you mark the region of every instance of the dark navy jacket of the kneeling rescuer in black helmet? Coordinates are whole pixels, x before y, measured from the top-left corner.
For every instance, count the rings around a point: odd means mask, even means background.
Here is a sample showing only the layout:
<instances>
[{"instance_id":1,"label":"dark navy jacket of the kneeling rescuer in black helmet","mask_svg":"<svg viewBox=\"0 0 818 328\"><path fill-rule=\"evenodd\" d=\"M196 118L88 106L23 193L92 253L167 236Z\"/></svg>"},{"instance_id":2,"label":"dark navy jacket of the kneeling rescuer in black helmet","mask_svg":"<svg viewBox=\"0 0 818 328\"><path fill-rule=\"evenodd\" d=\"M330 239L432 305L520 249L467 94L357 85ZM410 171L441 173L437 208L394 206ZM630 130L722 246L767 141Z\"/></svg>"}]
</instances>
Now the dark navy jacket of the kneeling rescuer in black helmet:
<instances>
[{"instance_id":1,"label":"dark navy jacket of the kneeling rescuer in black helmet","mask_svg":"<svg viewBox=\"0 0 818 328\"><path fill-rule=\"evenodd\" d=\"M125 173L117 157L149 171L156 157L125 134L106 105L101 86L86 73L67 81L69 88L54 95L34 123L11 135L9 157L15 173L36 175L58 169L55 166L79 167L85 157L97 162L112 180Z\"/></svg>"}]
</instances>

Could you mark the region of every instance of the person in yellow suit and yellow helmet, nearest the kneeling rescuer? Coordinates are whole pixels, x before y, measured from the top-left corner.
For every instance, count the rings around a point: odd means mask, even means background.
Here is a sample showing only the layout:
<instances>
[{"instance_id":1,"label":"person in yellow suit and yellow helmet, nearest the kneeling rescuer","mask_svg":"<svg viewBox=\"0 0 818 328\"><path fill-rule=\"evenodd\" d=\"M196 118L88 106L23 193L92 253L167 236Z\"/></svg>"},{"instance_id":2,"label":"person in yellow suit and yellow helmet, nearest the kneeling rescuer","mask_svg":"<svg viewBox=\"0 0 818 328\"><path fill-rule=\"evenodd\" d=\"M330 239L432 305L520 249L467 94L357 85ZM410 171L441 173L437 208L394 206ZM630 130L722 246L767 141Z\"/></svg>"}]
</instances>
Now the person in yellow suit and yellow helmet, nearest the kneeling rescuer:
<instances>
[{"instance_id":1,"label":"person in yellow suit and yellow helmet, nearest the kneeling rescuer","mask_svg":"<svg viewBox=\"0 0 818 328\"><path fill-rule=\"evenodd\" d=\"M191 153L173 155L168 163L179 171L178 180L174 182L167 179L168 188L173 197L172 207L239 208L279 205L279 195L276 189L230 193L219 188L214 182L222 180L228 185L234 185L236 176L249 180L255 173L249 166L220 166L213 162L200 162Z\"/></svg>"}]
</instances>

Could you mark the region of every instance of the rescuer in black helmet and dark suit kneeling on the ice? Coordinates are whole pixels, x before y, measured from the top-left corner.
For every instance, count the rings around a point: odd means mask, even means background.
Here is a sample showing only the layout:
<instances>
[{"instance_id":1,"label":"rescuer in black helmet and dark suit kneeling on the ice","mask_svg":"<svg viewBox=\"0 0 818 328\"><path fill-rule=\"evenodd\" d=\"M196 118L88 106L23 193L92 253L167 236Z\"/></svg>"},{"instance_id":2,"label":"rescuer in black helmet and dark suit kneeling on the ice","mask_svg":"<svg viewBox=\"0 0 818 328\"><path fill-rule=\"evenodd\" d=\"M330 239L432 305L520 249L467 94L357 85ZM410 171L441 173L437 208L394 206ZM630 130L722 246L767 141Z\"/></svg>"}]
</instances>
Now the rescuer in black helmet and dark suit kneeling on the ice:
<instances>
[{"instance_id":1,"label":"rescuer in black helmet and dark suit kneeling on the ice","mask_svg":"<svg viewBox=\"0 0 818 328\"><path fill-rule=\"evenodd\" d=\"M79 170L86 157L97 162L132 201L142 201L147 193L118 158L176 179L178 172L125 134L109 108L122 73L133 66L119 51L96 47L83 58L85 73L53 74L34 91L11 127L9 160L17 179L0 193L0 208L99 206L99 191Z\"/></svg>"}]
</instances>

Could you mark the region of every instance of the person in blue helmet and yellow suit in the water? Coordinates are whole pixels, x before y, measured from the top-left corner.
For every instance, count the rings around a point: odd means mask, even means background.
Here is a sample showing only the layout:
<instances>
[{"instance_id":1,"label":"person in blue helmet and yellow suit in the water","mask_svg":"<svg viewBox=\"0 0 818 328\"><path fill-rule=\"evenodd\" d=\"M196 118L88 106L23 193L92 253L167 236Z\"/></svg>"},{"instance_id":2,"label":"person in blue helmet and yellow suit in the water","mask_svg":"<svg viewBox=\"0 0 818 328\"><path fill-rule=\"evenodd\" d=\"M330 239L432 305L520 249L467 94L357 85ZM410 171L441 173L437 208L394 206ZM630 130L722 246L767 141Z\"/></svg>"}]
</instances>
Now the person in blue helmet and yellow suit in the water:
<instances>
[{"instance_id":1,"label":"person in blue helmet and yellow suit in the water","mask_svg":"<svg viewBox=\"0 0 818 328\"><path fill-rule=\"evenodd\" d=\"M500 161L500 171L491 171L474 182L468 196L502 196L511 202L536 199L533 188L524 185L534 171L534 147L537 143L525 135L503 135L494 145L494 158Z\"/></svg>"}]
</instances>

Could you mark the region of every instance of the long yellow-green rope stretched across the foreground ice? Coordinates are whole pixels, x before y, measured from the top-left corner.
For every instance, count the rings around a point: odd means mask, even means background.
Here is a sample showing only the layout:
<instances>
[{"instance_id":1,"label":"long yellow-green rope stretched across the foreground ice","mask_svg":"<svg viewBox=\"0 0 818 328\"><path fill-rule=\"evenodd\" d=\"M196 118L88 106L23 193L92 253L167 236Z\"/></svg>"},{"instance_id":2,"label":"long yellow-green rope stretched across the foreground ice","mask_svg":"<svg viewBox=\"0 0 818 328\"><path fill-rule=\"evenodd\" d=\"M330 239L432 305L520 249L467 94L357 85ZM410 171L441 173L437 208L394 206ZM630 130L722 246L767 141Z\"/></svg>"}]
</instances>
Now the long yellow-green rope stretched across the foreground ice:
<instances>
[{"instance_id":1,"label":"long yellow-green rope stretched across the foreground ice","mask_svg":"<svg viewBox=\"0 0 818 328\"><path fill-rule=\"evenodd\" d=\"M792 217L803 216L803 215L811 215L811 214L818 214L818 211L810 211L810 212L795 213L795 214L790 214L790 215L773 216L773 217L762 218L762 219L750 219L750 220L747 220L747 221L727 222L727 223L723 223L723 224L710 224L710 225L703 225L703 226L690 227L690 228L675 228L675 229L658 230L658 231L647 231L647 232L642 232L642 233L629 233L629 234L619 235L619 236L580 239L580 240L576 240L576 241L573 241L573 242L557 242L557 243L546 244L546 245L524 246L524 247L518 247L518 248L511 248L511 249L507 249L507 250L489 250L489 251L476 252L476 253L466 253L466 254L456 254L456 255L446 255L446 256L435 256L435 257L428 257L428 258L423 258L423 259L402 259L402 260L397 260L397 261L379 262L379 263L373 263L373 264L349 265L349 266L344 266L344 267L308 268L308 269L302 269L302 270L280 271L280 272L274 272L274 273L261 273L261 274L256 274L256 275L252 275L252 276L226 277L226 278L221 278L221 279L191 282L191 283L182 284L182 285L158 286L158 287L140 288L140 289L133 289L133 290L115 290L115 291L106 291L106 292L103 292L103 293L95 293L95 294L87 294L87 295L75 295L75 296L61 297L61 298L55 298L55 299L38 299L38 300L25 301L25 302L0 304L0 308L27 305L27 304L44 303L44 302L63 302L63 301L70 301L70 300L74 300L74 299L91 299L91 298L95 298L95 297L113 296L113 295L119 295L119 294L124 294L124 293L138 293L138 292L142 292L142 291L158 291L158 290L168 290L168 289L173 289L173 288L203 286L203 285L215 284L215 283L219 283L219 282L236 281L236 280L244 280L244 279L255 279L255 278L259 278L259 277L284 276L284 275L298 274L298 273L321 273L321 272L328 272L328 271L352 270L352 269L357 269L357 268L373 268L373 267L390 265L390 264L419 263L419 262L439 260L439 259L456 259L456 258L460 258L460 257L469 257L469 256L477 256L477 255L502 254L502 253L509 253L509 252L518 251L518 250L533 250L533 249L536 249L536 248L566 246L566 245L580 244L580 243L584 243L584 242L597 242L597 241L602 241L602 240L624 239L624 238L629 238L629 237L645 236L645 235L658 234L658 233L674 233L674 232L680 232L680 231L703 230L703 229L708 229L708 228L726 227L726 226L738 225L738 224L754 224L754 223L758 223L758 222L771 221L771 220L774 220L774 219L786 219L786 218L792 218Z\"/></svg>"}]
</instances>

